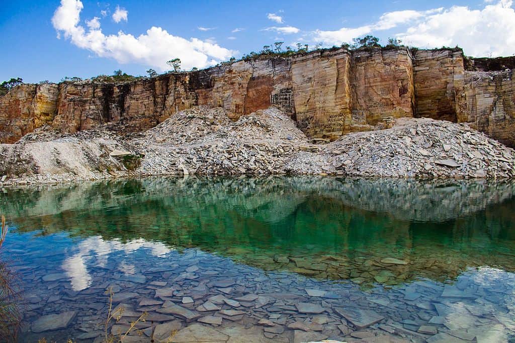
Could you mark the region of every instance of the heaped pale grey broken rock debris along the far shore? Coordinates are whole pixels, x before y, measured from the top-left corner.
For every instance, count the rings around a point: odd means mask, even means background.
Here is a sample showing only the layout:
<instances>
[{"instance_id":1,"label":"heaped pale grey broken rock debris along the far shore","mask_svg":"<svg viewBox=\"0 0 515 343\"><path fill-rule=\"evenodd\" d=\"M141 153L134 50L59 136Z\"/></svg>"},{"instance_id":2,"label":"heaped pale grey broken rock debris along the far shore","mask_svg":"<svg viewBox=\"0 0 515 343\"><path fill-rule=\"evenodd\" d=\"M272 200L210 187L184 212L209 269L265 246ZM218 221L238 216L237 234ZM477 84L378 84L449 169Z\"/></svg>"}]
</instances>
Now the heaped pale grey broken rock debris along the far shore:
<instances>
[{"instance_id":1,"label":"heaped pale grey broken rock debris along the far shore","mask_svg":"<svg viewBox=\"0 0 515 343\"><path fill-rule=\"evenodd\" d=\"M233 122L224 109L201 106L137 134L121 135L109 126L76 134L40 129L14 145L0 145L0 177L4 183L32 183L164 174L419 179L515 174L513 149L465 124L414 118L392 124L321 143L273 107Z\"/></svg>"}]
</instances>

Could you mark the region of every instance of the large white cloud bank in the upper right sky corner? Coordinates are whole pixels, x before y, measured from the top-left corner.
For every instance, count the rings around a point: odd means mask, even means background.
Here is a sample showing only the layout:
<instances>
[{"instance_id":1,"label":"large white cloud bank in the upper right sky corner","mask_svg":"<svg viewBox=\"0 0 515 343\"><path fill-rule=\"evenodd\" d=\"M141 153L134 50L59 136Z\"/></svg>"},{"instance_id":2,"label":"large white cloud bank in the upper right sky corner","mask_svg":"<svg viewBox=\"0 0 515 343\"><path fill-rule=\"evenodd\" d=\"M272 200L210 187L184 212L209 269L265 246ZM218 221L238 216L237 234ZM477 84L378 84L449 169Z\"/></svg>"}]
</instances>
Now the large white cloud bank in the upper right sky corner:
<instances>
[{"instance_id":1,"label":"large white cloud bank in the upper right sky corner","mask_svg":"<svg viewBox=\"0 0 515 343\"><path fill-rule=\"evenodd\" d=\"M421 48L459 45L471 56L509 56L515 53L515 10L512 0L488 1L482 9L466 6L428 11L395 11L383 14L370 25L317 30L313 40L326 45L351 42L378 31L398 29L395 37Z\"/></svg>"}]
</instances>

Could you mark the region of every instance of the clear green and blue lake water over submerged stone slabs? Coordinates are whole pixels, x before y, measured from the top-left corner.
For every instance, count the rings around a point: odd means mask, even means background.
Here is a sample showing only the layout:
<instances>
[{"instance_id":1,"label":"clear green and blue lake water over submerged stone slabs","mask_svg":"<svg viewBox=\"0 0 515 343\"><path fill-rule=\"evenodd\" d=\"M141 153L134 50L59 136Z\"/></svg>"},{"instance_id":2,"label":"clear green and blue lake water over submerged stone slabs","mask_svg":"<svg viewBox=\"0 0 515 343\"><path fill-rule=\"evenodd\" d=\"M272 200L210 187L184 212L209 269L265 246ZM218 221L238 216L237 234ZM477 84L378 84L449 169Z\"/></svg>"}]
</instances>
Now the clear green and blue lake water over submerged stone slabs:
<instances>
[{"instance_id":1,"label":"clear green and blue lake water over submerged stone slabs","mask_svg":"<svg viewBox=\"0 0 515 343\"><path fill-rule=\"evenodd\" d=\"M1 191L20 341L102 341L108 289L120 316L108 334L147 313L127 342L515 341L512 182L159 177Z\"/></svg>"}]
</instances>

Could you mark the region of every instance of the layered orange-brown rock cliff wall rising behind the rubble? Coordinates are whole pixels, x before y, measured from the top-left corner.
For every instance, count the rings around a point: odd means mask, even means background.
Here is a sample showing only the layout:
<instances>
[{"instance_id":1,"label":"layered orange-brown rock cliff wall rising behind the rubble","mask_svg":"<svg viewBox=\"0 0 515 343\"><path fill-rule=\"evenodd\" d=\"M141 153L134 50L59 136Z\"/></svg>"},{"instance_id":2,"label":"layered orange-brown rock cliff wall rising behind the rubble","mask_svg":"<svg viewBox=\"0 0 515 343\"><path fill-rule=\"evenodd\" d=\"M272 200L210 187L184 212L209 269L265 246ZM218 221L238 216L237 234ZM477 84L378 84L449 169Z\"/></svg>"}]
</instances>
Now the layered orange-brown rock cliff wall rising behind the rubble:
<instances>
[{"instance_id":1,"label":"layered orange-brown rock cliff wall rising behind the rubble","mask_svg":"<svg viewBox=\"0 0 515 343\"><path fill-rule=\"evenodd\" d=\"M458 48L331 49L120 84L24 84L0 97L0 142L43 125L139 132L197 105L224 107L232 120L274 105L312 138L428 117L471 123L515 146L514 66L515 58L466 58Z\"/></svg>"}]
</instances>

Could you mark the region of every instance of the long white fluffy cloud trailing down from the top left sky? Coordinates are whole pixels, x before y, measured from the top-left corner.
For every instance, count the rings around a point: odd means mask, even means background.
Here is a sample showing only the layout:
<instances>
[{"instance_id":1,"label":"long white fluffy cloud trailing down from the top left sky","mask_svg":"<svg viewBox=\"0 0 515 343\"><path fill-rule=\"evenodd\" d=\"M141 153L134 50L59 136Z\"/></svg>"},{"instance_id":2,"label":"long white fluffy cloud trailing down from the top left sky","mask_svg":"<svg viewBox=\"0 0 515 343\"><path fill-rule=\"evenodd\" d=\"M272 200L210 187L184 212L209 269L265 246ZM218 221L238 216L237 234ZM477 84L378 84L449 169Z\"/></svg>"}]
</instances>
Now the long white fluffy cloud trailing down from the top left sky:
<instances>
[{"instance_id":1,"label":"long white fluffy cloud trailing down from the top left sky","mask_svg":"<svg viewBox=\"0 0 515 343\"><path fill-rule=\"evenodd\" d=\"M52 24L58 38L63 34L72 44L98 57L113 58L119 63L140 63L163 71L169 69L166 61L173 58L180 58L185 69L204 68L228 60L236 53L208 41L174 36L161 27L151 27L138 37L123 31L105 35L95 23L87 31L79 25L82 9L80 0L61 0Z\"/></svg>"}]
</instances>

